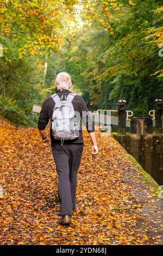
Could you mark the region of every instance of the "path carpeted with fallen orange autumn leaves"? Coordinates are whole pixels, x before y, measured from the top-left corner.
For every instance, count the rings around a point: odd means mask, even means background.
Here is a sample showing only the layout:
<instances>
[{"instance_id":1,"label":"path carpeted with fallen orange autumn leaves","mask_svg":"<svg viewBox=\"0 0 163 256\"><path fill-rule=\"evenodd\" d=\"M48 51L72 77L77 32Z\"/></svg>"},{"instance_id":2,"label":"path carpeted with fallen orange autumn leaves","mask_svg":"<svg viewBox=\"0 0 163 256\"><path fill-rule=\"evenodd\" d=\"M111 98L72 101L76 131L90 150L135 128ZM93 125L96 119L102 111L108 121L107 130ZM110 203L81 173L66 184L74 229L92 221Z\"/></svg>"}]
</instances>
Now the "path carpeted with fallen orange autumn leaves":
<instances>
[{"instance_id":1,"label":"path carpeted with fallen orange autumn leaves","mask_svg":"<svg viewBox=\"0 0 163 256\"><path fill-rule=\"evenodd\" d=\"M84 133L77 211L62 227L51 148L43 148L36 128L0 123L1 245L161 244L161 200L114 138L98 133L92 156Z\"/></svg>"}]
</instances>

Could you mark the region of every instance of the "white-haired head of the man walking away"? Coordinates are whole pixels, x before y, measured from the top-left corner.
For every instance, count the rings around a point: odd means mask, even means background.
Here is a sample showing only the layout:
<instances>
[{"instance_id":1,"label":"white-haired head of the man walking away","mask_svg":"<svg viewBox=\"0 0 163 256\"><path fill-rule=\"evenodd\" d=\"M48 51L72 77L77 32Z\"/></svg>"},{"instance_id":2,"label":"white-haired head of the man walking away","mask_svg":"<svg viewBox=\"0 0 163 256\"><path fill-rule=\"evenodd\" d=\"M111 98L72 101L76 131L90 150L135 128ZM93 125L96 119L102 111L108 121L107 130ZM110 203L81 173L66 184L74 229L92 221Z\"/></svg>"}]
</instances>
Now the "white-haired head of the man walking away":
<instances>
[{"instance_id":1,"label":"white-haired head of the man walking away","mask_svg":"<svg viewBox=\"0 0 163 256\"><path fill-rule=\"evenodd\" d=\"M55 86L57 89L70 89L72 86L71 76L66 72L60 72L55 78Z\"/></svg>"}]
</instances>

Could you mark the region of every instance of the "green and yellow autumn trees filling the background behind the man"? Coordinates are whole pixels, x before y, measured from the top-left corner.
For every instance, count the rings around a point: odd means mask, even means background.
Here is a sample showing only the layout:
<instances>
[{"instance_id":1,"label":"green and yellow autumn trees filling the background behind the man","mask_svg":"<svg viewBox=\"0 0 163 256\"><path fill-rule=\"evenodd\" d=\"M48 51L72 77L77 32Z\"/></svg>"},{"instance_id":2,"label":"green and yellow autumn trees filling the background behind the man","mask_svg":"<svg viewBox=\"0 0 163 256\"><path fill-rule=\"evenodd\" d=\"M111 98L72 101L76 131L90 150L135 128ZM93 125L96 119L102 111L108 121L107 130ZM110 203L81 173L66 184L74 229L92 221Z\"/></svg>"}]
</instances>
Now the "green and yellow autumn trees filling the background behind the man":
<instances>
[{"instance_id":1,"label":"green and yellow autumn trees filling the background behind the man","mask_svg":"<svg viewBox=\"0 0 163 256\"><path fill-rule=\"evenodd\" d=\"M71 75L74 92L85 101L125 99L137 117L148 115L156 98L163 99L162 77L157 76L162 72L160 1L30 2L21 4L22 14L20 1L12 3L15 9L10 1L3 1L0 8L1 115L17 124L36 125L33 104L54 93L55 75L60 71ZM80 17L77 3L80 8L83 5ZM58 9L60 4L63 10ZM21 17L10 21L15 13ZM41 23L40 15L45 19Z\"/></svg>"}]
</instances>

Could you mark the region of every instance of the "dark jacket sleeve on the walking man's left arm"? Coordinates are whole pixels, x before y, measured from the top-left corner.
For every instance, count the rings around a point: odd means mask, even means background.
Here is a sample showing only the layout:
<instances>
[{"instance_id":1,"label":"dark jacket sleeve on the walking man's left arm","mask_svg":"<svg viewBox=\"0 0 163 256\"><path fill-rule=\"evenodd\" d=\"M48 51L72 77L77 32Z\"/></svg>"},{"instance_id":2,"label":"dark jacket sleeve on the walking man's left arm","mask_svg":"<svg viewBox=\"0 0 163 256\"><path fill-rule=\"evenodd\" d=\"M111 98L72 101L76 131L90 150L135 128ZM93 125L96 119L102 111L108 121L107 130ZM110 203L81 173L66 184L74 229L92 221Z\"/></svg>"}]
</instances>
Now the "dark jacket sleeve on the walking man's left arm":
<instances>
[{"instance_id":1,"label":"dark jacket sleeve on the walking man's left arm","mask_svg":"<svg viewBox=\"0 0 163 256\"><path fill-rule=\"evenodd\" d=\"M44 130L46 125L48 124L49 121L49 116L48 116L48 109L47 109L47 104L46 100L43 102L41 106L41 112L38 120L38 129L39 130Z\"/></svg>"}]
</instances>

